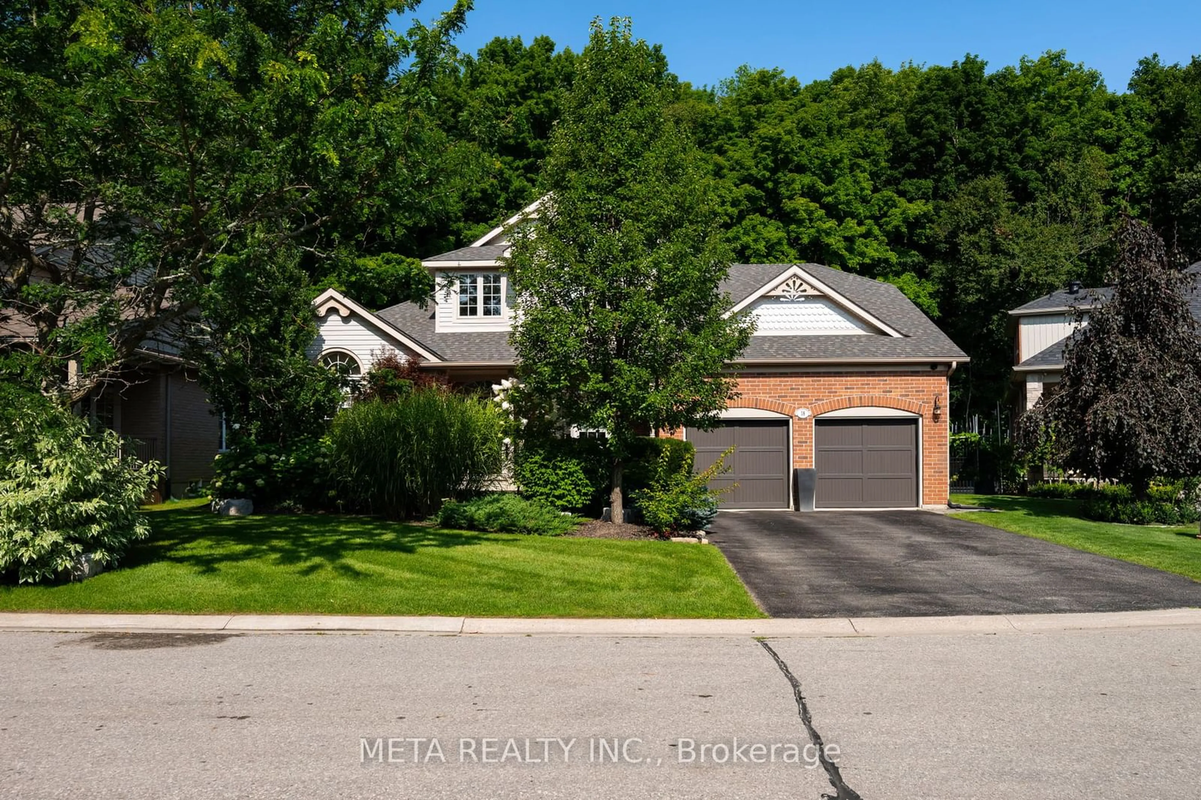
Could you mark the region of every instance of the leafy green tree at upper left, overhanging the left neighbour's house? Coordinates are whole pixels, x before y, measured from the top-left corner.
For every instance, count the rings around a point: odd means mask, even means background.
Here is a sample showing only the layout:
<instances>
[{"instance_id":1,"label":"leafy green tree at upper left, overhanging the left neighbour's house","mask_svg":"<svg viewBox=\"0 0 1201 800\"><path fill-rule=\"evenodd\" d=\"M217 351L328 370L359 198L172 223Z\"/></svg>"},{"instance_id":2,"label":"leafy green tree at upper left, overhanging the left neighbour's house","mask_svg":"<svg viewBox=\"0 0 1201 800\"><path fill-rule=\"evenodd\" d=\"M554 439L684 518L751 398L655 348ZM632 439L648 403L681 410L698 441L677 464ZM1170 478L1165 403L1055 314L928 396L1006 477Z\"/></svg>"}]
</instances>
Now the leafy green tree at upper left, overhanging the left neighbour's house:
<instances>
[{"instance_id":1,"label":"leafy green tree at upper left, overhanging the left neighbour's house","mask_svg":"<svg viewBox=\"0 0 1201 800\"><path fill-rule=\"evenodd\" d=\"M458 210L461 149L429 106L471 2L389 30L416 6L4 4L0 326L19 340L6 364L79 400L148 340L178 338L219 259L252 238L299 249L311 281L363 258L418 271L388 253L413 255L410 232Z\"/></svg>"}]
</instances>

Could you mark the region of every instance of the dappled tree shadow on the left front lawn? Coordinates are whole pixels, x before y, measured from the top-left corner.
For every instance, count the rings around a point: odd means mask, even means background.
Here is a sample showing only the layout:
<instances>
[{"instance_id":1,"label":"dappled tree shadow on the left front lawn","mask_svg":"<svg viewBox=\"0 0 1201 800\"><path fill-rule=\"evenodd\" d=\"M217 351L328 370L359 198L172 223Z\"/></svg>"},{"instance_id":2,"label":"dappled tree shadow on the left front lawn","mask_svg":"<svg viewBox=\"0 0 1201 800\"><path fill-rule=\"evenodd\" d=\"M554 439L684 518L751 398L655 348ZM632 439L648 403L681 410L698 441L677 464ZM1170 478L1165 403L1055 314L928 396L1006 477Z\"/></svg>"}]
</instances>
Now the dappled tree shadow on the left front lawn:
<instances>
[{"instance_id":1,"label":"dappled tree shadow on the left front lawn","mask_svg":"<svg viewBox=\"0 0 1201 800\"><path fill-rule=\"evenodd\" d=\"M295 567L309 577L330 569L346 578L365 573L348 559L363 551L417 553L423 548L461 548L497 541L491 533L447 532L426 525L340 514L261 514L216 517L205 507L156 509L153 533L123 559L123 567L160 561L185 565L198 574L222 566L262 561Z\"/></svg>"}]
</instances>

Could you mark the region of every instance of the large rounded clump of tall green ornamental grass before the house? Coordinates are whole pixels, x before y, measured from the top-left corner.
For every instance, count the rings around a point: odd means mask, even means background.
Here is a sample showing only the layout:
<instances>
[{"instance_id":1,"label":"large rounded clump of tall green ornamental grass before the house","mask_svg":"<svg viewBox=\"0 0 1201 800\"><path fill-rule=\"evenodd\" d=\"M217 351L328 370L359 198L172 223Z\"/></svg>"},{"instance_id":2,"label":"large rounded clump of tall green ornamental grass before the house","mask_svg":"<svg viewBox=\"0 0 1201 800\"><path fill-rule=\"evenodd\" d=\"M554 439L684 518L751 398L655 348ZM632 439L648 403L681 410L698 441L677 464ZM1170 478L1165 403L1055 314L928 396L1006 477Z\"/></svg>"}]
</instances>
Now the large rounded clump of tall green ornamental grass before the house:
<instances>
[{"instance_id":1,"label":"large rounded clump of tall green ornamental grass before the house","mask_svg":"<svg viewBox=\"0 0 1201 800\"><path fill-rule=\"evenodd\" d=\"M330 441L339 498L392 519L477 495L502 466L490 404L438 389L355 402L334 417Z\"/></svg>"}]
</instances>

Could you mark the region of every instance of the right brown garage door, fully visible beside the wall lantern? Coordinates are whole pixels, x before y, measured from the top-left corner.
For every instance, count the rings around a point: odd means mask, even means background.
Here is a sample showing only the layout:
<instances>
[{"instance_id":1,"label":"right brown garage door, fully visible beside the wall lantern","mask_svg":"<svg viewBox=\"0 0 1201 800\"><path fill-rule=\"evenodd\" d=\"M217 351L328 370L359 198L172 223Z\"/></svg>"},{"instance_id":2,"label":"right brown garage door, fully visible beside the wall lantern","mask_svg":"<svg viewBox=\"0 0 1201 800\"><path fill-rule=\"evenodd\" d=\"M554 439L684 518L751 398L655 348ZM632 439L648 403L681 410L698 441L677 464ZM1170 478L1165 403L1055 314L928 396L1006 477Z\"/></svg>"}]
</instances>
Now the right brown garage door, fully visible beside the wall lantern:
<instances>
[{"instance_id":1,"label":"right brown garage door, fully visible beside the wall lantern","mask_svg":"<svg viewBox=\"0 0 1201 800\"><path fill-rule=\"evenodd\" d=\"M916 419L819 419L818 508L918 505Z\"/></svg>"}]
</instances>

